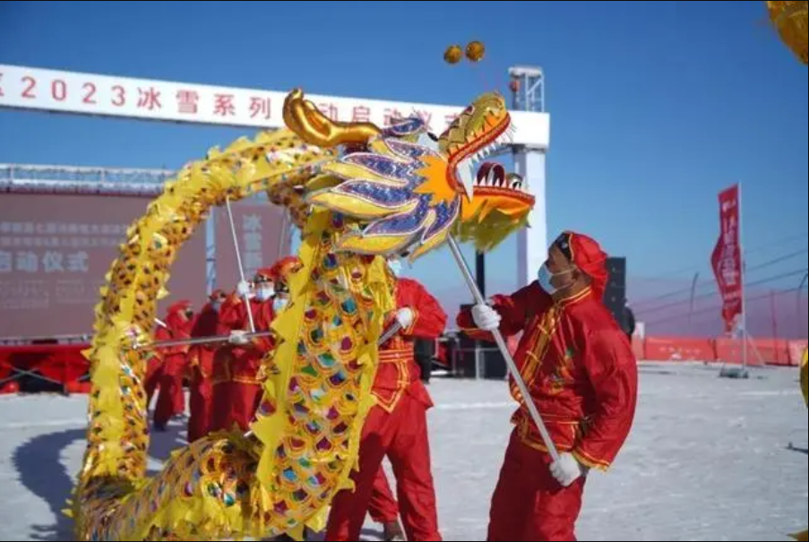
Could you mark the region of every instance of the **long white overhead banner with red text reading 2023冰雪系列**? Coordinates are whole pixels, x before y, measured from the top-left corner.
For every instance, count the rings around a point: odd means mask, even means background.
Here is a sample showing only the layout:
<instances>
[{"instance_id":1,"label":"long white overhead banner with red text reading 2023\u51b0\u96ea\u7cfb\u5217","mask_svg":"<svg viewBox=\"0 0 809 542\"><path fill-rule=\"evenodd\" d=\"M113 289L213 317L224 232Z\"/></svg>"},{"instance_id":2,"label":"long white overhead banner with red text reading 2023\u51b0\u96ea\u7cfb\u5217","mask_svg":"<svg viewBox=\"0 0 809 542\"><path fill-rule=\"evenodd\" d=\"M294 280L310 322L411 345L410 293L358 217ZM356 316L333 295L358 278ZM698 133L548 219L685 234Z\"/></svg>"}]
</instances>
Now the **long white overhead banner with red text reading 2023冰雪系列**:
<instances>
[{"instance_id":1,"label":"long white overhead banner with red text reading 2023\u51b0\u96ea\u7cfb\u5217","mask_svg":"<svg viewBox=\"0 0 809 542\"><path fill-rule=\"evenodd\" d=\"M0 108L123 116L206 125L280 128L286 92L237 89L198 83L134 79L99 73L46 70L0 64ZM441 133L463 107L306 94L332 120L386 126L417 115ZM512 111L514 142L546 149L550 116Z\"/></svg>"}]
</instances>

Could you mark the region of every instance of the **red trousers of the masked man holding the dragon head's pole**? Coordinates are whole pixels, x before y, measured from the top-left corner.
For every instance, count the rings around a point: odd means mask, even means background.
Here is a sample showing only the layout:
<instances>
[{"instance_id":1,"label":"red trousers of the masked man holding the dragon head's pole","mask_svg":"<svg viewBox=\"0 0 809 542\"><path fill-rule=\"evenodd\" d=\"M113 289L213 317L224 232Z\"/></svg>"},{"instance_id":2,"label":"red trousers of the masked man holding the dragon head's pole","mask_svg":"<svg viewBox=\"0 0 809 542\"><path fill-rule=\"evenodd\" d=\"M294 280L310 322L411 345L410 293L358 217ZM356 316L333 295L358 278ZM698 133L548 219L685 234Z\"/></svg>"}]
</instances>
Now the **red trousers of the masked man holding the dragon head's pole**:
<instances>
[{"instance_id":1,"label":"red trousers of the masked man holding the dragon head's pole","mask_svg":"<svg viewBox=\"0 0 809 542\"><path fill-rule=\"evenodd\" d=\"M562 487L549 465L547 453L512 433L492 496L487 540L576 540L585 480Z\"/></svg>"}]
</instances>

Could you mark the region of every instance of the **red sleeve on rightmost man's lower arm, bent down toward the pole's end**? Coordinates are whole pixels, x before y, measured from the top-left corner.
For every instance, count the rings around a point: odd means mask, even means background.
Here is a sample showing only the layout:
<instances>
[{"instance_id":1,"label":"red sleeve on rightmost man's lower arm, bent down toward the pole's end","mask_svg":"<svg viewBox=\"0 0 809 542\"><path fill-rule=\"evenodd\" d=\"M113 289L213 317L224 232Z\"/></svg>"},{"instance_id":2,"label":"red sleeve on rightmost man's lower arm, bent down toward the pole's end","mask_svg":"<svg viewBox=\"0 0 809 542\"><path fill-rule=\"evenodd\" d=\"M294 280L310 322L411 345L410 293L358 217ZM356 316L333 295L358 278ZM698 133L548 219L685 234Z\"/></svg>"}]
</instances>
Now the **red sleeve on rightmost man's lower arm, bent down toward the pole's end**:
<instances>
[{"instance_id":1,"label":"red sleeve on rightmost man's lower arm, bent down toward the pole's end","mask_svg":"<svg viewBox=\"0 0 809 542\"><path fill-rule=\"evenodd\" d=\"M584 368L598 405L573 456L606 470L632 428L638 396L638 365L623 331L592 331L585 341Z\"/></svg>"}]
</instances>

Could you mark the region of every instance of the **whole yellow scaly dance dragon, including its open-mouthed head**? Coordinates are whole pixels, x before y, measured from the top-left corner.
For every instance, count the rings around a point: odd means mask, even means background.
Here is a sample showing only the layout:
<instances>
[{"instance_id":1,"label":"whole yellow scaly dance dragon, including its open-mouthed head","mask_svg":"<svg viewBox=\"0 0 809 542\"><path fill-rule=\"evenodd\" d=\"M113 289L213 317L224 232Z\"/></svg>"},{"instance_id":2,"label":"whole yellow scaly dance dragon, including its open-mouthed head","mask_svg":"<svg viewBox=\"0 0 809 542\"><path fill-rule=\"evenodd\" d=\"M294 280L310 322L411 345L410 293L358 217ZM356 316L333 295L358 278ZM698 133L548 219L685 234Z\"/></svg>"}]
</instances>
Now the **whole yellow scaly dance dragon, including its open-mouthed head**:
<instances>
[{"instance_id":1,"label":"whole yellow scaly dance dragon, including its open-mouthed head","mask_svg":"<svg viewBox=\"0 0 809 542\"><path fill-rule=\"evenodd\" d=\"M533 198L513 177L474 179L507 137L503 98L485 94L440 137L416 118L384 130L331 122L300 91L287 129L240 139L187 165L127 232L96 307L85 352L92 391L87 449L69 512L80 540L265 538L319 529L348 487L376 370L376 341L395 308L384 257L416 259L448 235L496 245ZM500 168L502 171L502 168ZM302 231L290 303L262 360L251 432L211 434L147 476L143 377L157 300L171 264L211 208L265 193Z\"/></svg>"}]
</instances>

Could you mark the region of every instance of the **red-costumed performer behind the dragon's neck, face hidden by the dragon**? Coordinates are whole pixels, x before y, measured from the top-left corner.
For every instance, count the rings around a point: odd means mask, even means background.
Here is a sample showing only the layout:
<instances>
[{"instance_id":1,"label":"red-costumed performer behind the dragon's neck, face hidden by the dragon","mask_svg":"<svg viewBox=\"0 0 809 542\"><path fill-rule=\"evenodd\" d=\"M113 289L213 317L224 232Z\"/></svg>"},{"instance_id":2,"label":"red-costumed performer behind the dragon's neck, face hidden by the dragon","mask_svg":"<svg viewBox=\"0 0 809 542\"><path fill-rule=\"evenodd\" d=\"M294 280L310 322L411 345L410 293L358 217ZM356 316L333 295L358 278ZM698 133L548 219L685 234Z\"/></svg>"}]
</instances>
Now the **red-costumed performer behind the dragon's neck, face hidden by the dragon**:
<instances>
[{"instance_id":1,"label":"red-costumed performer behind the dragon's neck, face hidden by the dragon","mask_svg":"<svg viewBox=\"0 0 809 542\"><path fill-rule=\"evenodd\" d=\"M335 496L326 540L359 539L374 493L374 479L385 455L396 476L401 520L408 539L442 539L427 438L426 411L433 402L420 379L413 340L438 337L446 325L446 314L416 280L395 278L400 269L398 260L391 260L389 265L398 305L392 323L400 323L402 329L380 348L373 389L376 405L363 426L359 470L351 475L356 489Z\"/></svg>"}]
</instances>

